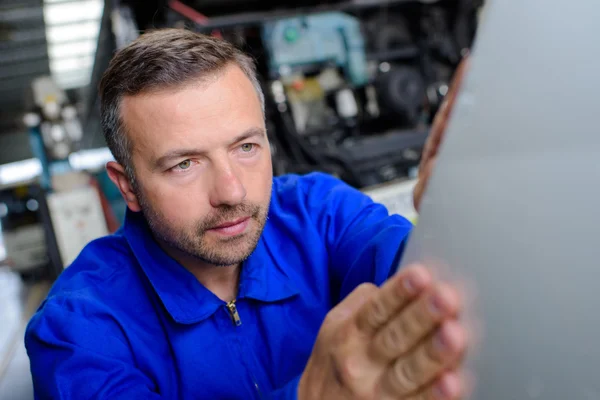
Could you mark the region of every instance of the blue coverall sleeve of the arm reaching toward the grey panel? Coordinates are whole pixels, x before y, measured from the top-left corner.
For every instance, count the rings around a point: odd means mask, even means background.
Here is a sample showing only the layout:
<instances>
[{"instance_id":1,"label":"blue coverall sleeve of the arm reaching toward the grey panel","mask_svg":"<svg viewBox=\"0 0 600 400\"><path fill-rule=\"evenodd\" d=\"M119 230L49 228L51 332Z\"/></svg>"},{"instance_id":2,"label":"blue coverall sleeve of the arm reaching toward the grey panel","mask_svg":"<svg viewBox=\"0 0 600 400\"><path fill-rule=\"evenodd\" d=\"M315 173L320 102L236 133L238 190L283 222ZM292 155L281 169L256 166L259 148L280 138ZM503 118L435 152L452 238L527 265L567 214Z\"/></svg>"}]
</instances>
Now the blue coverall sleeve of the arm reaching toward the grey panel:
<instances>
[{"instance_id":1,"label":"blue coverall sleeve of the arm reaching toward the grey panel","mask_svg":"<svg viewBox=\"0 0 600 400\"><path fill-rule=\"evenodd\" d=\"M396 272L412 229L406 218L389 215L382 204L325 174L312 175L306 196L327 247L338 301L361 283L380 285Z\"/></svg>"}]
</instances>

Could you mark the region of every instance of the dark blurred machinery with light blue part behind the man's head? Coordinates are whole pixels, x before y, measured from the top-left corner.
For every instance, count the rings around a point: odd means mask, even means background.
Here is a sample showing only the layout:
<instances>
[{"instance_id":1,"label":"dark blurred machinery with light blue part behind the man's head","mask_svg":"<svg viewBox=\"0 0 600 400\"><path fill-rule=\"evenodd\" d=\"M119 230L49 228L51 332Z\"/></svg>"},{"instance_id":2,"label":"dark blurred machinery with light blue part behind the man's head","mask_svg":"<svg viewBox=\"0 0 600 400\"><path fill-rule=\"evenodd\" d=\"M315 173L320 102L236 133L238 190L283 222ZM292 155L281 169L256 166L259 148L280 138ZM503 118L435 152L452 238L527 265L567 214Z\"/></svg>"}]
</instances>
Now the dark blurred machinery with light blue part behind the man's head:
<instances>
[{"instance_id":1,"label":"dark blurred machinery with light blue part behind the man's head","mask_svg":"<svg viewBox=\"0 0 600 400\"><path fill-rule=\"evenodd\" d=\"M257 59L276 174L364 188L414 174L482 0L143 3L121 3L140 30L185 26Z\"/></svg>"}]
</instances>

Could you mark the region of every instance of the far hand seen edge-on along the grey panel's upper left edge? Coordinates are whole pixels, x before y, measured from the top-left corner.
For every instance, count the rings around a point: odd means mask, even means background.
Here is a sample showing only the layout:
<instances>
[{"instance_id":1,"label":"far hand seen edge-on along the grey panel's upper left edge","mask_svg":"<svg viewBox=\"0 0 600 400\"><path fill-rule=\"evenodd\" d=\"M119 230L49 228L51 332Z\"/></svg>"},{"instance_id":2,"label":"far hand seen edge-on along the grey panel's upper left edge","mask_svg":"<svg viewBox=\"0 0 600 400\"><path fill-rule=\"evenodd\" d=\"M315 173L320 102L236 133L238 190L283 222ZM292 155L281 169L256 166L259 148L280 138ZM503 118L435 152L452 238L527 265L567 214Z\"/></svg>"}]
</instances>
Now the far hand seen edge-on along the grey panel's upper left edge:
<instances>
[{"instance_id":1,"label":"far hand seen edge-on along the grey panel's upper left edge","mask_svg":"<svg viewBox=\"0 0 600 400\"><path fill-rule=\"evenodd\" d=\"M431 132L429 133L429 137L427 138L425 148L423 149L423 155L421 157L421 165L419 166L419 180L417 181L417 185L415 186L413 192L413 203L415 210L417 211L419 211L419 208L421 207L421 199L423 198L423 193L425 193L427 183L429 182L429 177L433 171L438 149L444 137L444 133L446 132L446 126L448 125L450 114L454 108L454 102L456 101L458 91L460 90L460 86L467 70L467 64L468 57L463 59L456 69L454 79L450 85L450 90L444 99L442 107L433 119Z\"/></svg>"}]
</instances>

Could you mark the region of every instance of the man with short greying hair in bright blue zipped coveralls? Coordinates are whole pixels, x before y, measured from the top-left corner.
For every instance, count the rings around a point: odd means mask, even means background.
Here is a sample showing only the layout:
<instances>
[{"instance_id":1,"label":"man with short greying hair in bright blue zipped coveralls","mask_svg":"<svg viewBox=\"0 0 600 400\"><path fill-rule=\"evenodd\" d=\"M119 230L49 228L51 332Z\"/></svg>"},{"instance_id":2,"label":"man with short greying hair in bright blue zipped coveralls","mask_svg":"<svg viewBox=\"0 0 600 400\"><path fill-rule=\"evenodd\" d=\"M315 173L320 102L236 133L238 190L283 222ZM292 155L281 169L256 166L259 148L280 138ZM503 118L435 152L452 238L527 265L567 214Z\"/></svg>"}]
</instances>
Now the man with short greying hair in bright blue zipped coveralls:
<instances>
[{"instance_id":1,"label":"man with short greying hair in bright blue zipped coveralls","mask_svg":"<svg viewBox=\"0 0 600 400\"><path fill-rule=\"evenodd\" d=\"M100 92L126 221L32 318L37 398L461 398L458 294L395 273L405 219L323 174L272 177L247 56L158 30Z\"/></svg>"}]
</instances>

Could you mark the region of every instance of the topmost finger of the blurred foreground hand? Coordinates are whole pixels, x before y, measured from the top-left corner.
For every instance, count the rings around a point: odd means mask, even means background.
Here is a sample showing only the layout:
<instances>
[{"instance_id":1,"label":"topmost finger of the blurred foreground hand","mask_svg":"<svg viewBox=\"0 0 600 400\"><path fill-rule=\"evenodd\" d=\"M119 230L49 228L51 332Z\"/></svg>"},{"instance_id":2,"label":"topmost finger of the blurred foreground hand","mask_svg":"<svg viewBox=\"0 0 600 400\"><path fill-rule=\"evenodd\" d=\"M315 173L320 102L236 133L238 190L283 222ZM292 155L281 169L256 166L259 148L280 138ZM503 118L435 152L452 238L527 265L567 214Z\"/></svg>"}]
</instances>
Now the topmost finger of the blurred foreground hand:
<instances>
[{"instance_id":1,"label":"topmost finger of the blurred foreground hand","mask_svg":"<svg viewBox=\"0 0 600 400\"><path fill-rule=\"evenodd\" d=\"M423 267L408 267L388 279L359 310L356 323L366 335L375 333L421 293L431 282Z\"/></svg>"}]
</instances>

